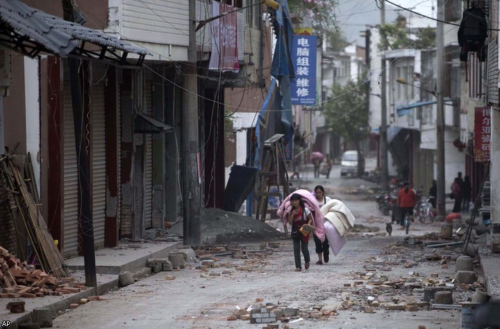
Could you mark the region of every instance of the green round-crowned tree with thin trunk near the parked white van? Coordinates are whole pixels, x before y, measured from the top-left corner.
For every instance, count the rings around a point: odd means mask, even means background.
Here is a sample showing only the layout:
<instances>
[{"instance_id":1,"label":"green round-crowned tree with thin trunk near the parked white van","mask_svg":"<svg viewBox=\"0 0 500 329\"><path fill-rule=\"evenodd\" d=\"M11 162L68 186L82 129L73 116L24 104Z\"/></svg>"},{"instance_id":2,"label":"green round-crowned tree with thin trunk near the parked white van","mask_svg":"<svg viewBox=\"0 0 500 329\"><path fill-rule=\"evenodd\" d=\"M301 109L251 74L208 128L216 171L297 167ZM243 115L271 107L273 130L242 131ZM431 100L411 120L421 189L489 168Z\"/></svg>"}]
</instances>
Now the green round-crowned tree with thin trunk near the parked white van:
<instances>
[{"instance_id":1,"label":"green round-crowned tree with thin trunk near the parked white van","mask_svg":"<svg viewBox=\"0 0 500 329\"><path fill-rule=\"evenodd\" d=\"M328 102L323 106L326 128L335 131L346 141L353 143L360 156L360 143L369 136L368 113L366 110L366 94L361 83L349 81L345 86L333 84ZM363 175L363 164L358 161L358 176Z\"/></svg>"}]
</instances>

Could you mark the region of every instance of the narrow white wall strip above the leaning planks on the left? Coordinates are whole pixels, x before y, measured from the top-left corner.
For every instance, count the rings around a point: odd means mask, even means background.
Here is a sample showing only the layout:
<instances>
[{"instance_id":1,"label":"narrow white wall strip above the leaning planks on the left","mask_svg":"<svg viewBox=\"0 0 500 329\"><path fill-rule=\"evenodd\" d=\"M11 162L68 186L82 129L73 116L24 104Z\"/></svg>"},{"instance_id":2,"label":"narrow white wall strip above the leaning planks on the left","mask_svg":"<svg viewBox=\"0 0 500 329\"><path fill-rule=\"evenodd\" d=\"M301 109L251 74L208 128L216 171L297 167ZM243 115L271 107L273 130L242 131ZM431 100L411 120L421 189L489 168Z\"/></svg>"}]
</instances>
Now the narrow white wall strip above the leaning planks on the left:
<instances>
[{"instance_id":1,"label":"narrow white wall strip above the leaning planks on the left","mask_svg":"<svg viewBox=\"0 0 500 329\"><path fill-rule=\"evenodd\" d=\"M24 93L26 106L26 154L31 153L33 172L40 195L40 75L39 62L24 56Z\"/></svg>"}]
</instances>

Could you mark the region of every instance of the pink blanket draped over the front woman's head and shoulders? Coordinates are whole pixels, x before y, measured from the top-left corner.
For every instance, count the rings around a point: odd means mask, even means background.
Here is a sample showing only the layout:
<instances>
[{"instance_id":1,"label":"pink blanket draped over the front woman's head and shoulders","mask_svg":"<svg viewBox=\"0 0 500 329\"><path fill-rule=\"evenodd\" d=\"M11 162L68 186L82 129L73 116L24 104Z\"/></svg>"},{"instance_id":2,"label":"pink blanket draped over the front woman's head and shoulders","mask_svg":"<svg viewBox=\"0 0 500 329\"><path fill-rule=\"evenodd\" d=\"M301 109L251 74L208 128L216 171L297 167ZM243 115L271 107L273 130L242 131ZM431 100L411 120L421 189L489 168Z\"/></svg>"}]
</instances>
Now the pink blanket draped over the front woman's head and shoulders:
<instances>
[{"instance_id":1,"label":"pink blanket draped over the front woman's head and shoulders","mask_svg":"<svg viewBox=\"0 0 500 329\"><path fill-rule=\"evenodd\" d=\"M307 190L297 190L294 193L301 195L302 200L306 207L311 211L311 215L313 216L313 226L316 227L315 236L318 237L322 242L324 241L324 219L322 215L321 209L317 204L316 198ZM288 195L283 202L281 202L278 211L276 214L283 220L283 225L288 224L288 214L292 212L292 204L290 203L290 197L292 194Z\"/></svg>"}]
</instances>

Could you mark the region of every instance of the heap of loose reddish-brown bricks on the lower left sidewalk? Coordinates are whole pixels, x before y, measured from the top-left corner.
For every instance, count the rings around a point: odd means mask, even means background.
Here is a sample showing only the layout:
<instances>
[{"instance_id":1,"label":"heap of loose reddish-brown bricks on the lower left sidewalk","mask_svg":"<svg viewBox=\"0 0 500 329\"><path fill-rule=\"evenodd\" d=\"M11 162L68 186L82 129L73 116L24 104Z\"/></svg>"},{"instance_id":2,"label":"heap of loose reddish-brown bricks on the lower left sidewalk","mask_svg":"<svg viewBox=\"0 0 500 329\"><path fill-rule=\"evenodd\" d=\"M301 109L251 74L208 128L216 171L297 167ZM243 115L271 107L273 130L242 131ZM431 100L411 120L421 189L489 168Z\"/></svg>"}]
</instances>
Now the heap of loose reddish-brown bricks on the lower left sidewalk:
<instances>
[{"instance_id":1,"label":"heap of loose reddish-brown bricks on the lower left sidewalk","mask_svg":"<svg viewBox=\"0 0 500 329\"><path fill-rule=\"evenodd\" d=\"M0 246L0 298L61 296L86 290L74 278L56 278L21 262Z\"/></svg>"}]
</instances>

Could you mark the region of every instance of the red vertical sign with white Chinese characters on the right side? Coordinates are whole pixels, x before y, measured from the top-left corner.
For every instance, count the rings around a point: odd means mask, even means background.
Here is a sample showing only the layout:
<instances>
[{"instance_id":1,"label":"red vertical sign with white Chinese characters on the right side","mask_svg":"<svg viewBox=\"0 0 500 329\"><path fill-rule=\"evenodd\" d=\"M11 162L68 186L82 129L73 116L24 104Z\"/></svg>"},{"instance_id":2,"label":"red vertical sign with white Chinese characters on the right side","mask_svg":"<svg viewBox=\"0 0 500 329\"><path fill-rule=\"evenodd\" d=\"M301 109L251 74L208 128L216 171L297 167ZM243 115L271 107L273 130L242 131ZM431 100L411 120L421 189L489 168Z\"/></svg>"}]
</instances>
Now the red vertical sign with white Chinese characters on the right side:
<instances>
[{"instance_id":1,"label":"red vertical sign with white Chinese characters on the right side","mask_svg":"<svg viewBox=\"0 0 500 329\"><path fill-rule=\"evenodd\" d=\"M491 108L474 108L474 161L490 161Z\"/></svg>"}]
</instances>

